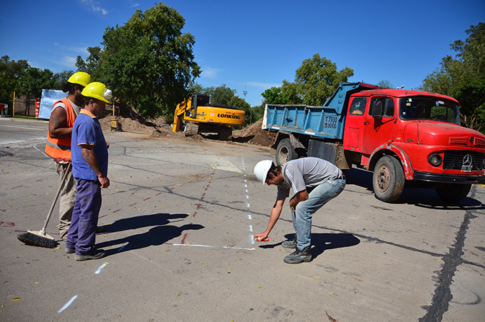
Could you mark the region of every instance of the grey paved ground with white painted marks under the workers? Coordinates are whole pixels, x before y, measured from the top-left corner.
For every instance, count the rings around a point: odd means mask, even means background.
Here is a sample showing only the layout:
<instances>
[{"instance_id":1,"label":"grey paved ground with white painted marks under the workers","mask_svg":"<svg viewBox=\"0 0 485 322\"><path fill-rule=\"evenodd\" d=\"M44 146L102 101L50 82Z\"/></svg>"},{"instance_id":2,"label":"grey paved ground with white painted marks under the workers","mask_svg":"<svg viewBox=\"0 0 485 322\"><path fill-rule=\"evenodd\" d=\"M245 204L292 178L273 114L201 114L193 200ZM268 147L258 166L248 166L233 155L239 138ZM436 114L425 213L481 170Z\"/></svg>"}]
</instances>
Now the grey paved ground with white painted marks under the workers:
<instances>
[{"instance_id":1,"label":"grey paved ground with white painted marks under the workers","mask_svg":"<svg viewBox=\"0 0 485 322\"><path fill-rule=\"evenodd\" d=\"M460 203L425 189L382 203L371 173L347 171L313 218L313 260L289 265L288 202L269 242L251 238L275 201L252 173L268 149L106 139L96 245L107 256L85 262L64 253L57 206L47 233L58 248L17 240L42 228L59 178L44 139L0 144L0 321L485 321L482 186Z\"/></svg>"}]
</instances>

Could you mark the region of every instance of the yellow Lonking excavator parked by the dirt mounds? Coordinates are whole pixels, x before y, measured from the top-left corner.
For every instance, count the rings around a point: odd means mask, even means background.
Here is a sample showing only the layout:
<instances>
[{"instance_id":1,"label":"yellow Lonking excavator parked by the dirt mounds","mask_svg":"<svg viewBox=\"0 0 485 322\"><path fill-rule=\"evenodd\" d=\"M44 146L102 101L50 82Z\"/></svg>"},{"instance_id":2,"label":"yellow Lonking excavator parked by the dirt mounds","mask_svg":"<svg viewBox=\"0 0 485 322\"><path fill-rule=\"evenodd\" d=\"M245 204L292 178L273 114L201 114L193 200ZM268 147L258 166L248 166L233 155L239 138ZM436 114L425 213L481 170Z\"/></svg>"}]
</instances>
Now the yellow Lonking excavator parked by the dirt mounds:
<instances>
[{"instance_id":1,"label":"yellow Lonking excavator parked by the dirt mounds","mask_svg":"<svg viewBox=\"0 0 485 322\"><path fill-rule=\"evenodd\" d=\"M210 96L191 93L177 105L172 131L185 131L185 136L217 134L218 139L227 141L233 135L233 126L244 125L244 120L244 111L234 106L210 104Z\"/></svg>"}]
</instances>

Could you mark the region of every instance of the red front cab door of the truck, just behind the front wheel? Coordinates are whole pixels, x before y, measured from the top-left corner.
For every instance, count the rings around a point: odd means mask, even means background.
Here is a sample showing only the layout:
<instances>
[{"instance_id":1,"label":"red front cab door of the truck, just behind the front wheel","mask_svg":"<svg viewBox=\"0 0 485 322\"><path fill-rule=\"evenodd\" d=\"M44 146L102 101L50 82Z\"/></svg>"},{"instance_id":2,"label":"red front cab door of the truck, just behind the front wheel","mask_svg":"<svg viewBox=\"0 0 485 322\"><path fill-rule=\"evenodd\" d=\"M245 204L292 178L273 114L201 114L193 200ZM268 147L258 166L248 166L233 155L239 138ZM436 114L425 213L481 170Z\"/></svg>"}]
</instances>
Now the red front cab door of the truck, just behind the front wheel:
<instances>
[{"instance_id":1,"label":"red front cab door of the truck, just behind the front wheel","mask_svg":"<svg viewBox=\"0 0 485 322\"><path fill-rule=\"evenodd\" d=\"M364 114L363 154L372 154L378 146L394 141L395 106L391 97L374 96L370 99L369 110ZM378 115L377 111L382 114Z\"/></svg>"}]
</instances>

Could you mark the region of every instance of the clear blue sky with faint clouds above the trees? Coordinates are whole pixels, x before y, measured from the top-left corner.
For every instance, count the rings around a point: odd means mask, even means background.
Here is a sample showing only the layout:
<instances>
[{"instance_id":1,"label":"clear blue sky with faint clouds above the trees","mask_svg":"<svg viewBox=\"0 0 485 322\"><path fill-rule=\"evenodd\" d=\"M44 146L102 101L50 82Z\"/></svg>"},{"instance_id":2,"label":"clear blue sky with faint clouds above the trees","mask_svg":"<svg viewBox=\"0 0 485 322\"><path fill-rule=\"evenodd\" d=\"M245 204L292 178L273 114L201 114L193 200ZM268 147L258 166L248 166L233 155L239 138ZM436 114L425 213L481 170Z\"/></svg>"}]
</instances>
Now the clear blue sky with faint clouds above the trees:
<instances>
[{"instance_id":1,"label":"clear blue sky with faint clouds above the trees","mask_svg":"<svg viewBox=\"0 0 485 322\"><path fill-rule=\"evenodd\" d=\"M0 56L53 72L76 70L107 26L122 26L145 0L1 1ZM349 81L412 89L453 55L449 44L485 22L483 0L221 1L168 0L195 36L202 86L226 84L252 106L261 93L294 81L302 61L325 56ZM182 100L183 98L180 98Z\"/></svg>"}]
</instances>

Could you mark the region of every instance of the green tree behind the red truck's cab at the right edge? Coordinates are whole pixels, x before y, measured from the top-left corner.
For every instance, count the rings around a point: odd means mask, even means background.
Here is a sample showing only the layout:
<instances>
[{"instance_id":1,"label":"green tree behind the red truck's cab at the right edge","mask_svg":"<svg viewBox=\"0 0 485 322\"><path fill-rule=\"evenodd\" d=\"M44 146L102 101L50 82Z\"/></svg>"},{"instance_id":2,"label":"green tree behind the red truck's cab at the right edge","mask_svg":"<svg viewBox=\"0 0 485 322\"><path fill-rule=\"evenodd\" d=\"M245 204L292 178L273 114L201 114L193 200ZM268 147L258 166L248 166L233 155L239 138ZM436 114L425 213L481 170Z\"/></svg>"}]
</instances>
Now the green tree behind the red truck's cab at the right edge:
<instances>
[{"instance_id":1,"label":"green tree behind the red truck's cab at the right edge","mask_svg":"<svg viewBox=\"0 0 485 322\"><path fill-rule=\"evenodd\" d=\"M429 74L419 90L454 97L461 104L462 123L484 131L485 123L485 24L480 22L465 31L469 37L450 44L455 57L441 59L440 66Z\"/></svg>"}]
</instances>

